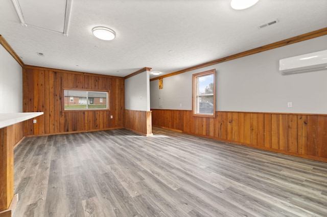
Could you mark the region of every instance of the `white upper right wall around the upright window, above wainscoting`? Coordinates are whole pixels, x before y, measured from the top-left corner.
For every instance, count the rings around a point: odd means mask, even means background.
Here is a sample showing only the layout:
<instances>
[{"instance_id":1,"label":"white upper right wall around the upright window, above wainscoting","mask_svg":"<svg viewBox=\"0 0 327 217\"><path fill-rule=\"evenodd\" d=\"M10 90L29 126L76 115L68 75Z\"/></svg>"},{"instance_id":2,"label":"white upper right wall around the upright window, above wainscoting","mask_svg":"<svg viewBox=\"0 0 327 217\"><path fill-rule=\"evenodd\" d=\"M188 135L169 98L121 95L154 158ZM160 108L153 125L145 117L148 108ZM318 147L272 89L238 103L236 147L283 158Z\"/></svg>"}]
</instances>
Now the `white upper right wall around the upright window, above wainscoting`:
<instances>
[{"instance_id":1,"label":"white upper right wall around the upright window, above wainscoting","mask_svg":"<svg viewBox=\"0 0 327 217\"><path fill-rule=\"evenodd\" d=\"M154 80L151 108L192 110L192 74L216 69L217 111L327 114L327 70L291 75L278 70L279 59L324 49L327 36L167 77L162 90Z\"/></svg>"}]
</instances>

